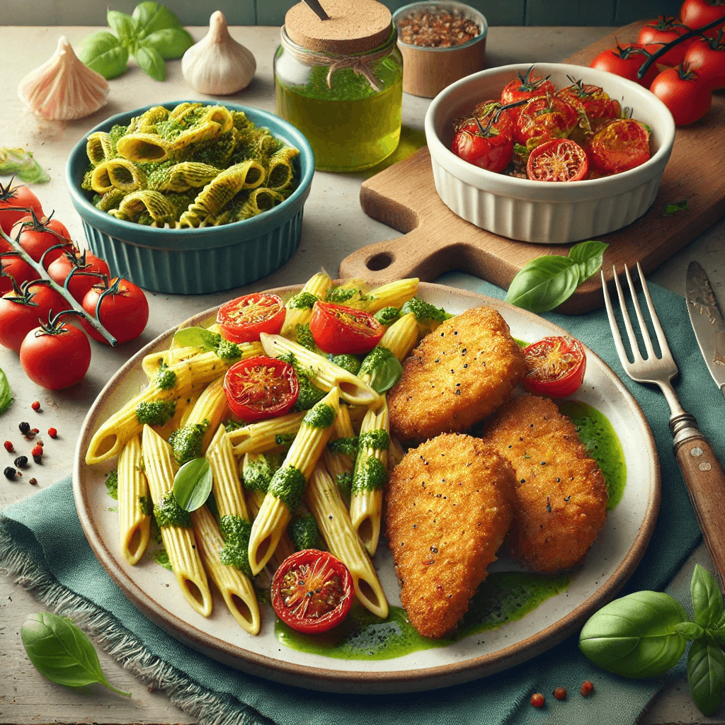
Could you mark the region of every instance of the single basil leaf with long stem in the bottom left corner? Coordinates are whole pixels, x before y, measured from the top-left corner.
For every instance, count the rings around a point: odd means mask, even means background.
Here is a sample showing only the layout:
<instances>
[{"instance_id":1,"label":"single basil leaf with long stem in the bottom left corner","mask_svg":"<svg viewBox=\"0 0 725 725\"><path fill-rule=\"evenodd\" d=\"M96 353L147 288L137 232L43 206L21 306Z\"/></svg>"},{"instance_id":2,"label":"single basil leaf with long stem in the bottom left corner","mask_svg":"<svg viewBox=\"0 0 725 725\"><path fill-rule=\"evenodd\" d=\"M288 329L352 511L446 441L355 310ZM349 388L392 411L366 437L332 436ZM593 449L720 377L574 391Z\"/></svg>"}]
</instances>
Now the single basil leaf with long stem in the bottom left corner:
<instances>
[{"instance_id":1,"label":"single basil leaf with long stem in the bottom left corner","mask_svg":"<svg viewBox=\"0 0 725 725\"><path fill-rule=\"evenodd\" d=\"M51 682L67 687L100 682L113 692L130 697L130 692L109 684L91 640L67 619L49 612L30 614L20 637L30 662Z\"/></svg>"}]
</instances>

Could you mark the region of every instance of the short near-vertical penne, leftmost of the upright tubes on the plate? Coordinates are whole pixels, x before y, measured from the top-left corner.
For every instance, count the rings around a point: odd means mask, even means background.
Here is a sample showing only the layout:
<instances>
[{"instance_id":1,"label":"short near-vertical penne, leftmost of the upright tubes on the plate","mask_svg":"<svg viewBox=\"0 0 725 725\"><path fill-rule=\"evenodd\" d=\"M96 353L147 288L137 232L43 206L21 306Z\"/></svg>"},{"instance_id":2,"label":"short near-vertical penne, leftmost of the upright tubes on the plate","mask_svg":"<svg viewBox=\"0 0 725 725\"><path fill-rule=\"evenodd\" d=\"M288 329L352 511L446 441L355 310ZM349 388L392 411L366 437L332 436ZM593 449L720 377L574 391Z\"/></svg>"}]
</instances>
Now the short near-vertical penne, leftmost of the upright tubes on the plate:
<instances>
[{"instance_id":1,"label":"short near-vertical penne, leftmost of the upright tubes on the plate","mask_svg":"<svg viewBox=\"0 0 725 725\"><path fill-rule=\"evenodd\" d=\"M152 500L142 469L141 441L133 436L121 450L117 468L120 547L129 564L144 555L151 531Z\"/></svg>"}]
</instances>

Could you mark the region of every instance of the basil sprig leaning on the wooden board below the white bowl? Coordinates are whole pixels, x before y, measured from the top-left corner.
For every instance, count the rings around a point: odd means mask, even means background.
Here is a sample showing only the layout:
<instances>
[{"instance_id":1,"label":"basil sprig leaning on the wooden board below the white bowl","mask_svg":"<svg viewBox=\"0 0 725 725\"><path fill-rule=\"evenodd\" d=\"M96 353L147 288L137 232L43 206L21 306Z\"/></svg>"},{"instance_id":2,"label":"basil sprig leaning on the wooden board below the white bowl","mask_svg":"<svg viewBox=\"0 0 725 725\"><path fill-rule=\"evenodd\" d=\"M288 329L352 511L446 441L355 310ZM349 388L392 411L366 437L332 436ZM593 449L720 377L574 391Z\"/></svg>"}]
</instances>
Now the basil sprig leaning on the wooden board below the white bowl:
<instances>
[{"instance_id":1,"label":"basil sprig leaning on the wooden board below the white bowl","mask_svg":"<svg viewBox=\"0 0 725 725\"><path fill-rule=\"evenodd\" d=\"M603 241L582 241L569 249L568 257L547 254L531 260L511 281L506 302L530 312L553 310L599 271L608 246Z\"/></svg>"}]
</instances>

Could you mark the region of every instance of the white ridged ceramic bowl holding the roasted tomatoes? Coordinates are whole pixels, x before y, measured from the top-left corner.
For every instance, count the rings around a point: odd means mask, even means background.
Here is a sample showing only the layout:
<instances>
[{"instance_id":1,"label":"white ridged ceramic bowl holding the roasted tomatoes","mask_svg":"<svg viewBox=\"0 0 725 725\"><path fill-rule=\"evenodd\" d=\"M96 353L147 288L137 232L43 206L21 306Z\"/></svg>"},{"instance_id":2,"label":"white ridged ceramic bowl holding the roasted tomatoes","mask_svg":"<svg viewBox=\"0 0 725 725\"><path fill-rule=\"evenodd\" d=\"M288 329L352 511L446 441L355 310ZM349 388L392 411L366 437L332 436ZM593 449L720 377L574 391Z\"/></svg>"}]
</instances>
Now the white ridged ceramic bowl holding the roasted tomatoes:
<instances>
[{"instance_id":1,"label":"white ridged ceramic bowl holding the roasted tomatoes","mask_svg":"<svg viewBox=\"0 0 725 725\"><path fill-rule=\"evenodd\" d=\"M652 206L672 150L674 120L646 88L594 68L538 63L534 75L550 75L557 88L572 78L602 86L633 117L650 126L649 161L629 171L598 179L553 183L492 173L450 151L452 120L465 117L482 100L497 98L516 71L509 65L469 75L445 88L426 114L426 140L438 195L455 214L508 239L533 244L570 244L616 231Z\"/></svg>"}]
</instances>

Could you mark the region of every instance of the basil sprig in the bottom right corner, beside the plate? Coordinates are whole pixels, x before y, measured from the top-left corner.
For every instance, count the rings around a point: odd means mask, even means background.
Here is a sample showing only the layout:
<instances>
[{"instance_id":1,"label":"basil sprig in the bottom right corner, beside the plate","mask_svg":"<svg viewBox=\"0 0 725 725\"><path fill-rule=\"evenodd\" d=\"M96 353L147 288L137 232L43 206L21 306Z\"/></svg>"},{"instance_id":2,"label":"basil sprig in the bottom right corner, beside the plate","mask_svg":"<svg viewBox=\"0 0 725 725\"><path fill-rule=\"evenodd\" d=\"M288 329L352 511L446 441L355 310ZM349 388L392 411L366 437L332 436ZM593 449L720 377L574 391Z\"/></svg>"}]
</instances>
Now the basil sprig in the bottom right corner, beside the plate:
<instances>
[{"instance_id":1,"label":"basil sprig in the bottom right corner, beside the plate","mask_svg":"<svg viewBox=\"0 0 725 725\"><path fill-rule=\"evenodd\" d=\"M665 674L687 653L692 700L703 715L725 689L725 614L715 577L697 564L690 584L695 621L663 592L635 592L602 607L581 630L579 649L602 669L624 677Z\"/></svg>"}]
</instances>

